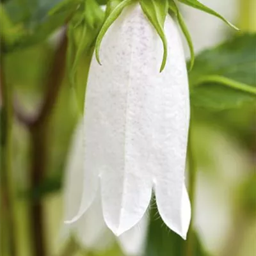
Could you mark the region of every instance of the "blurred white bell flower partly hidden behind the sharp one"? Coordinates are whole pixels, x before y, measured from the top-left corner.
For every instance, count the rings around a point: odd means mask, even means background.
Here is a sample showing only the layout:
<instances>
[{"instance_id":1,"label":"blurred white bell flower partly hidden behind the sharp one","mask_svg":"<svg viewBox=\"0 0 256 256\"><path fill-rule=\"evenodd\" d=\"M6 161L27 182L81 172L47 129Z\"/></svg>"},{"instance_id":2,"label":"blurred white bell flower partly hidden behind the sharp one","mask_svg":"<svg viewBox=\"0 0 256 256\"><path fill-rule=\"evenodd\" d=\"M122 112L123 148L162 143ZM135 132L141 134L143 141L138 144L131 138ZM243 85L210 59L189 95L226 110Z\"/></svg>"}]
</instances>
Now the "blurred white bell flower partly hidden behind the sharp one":
<instances>
[{"instance_id":1,"label":"blurred white bell flower partly hidden behind the sharp one","mask_svg":"<svg viewBox=\"0 0 256 256\"><path fill-rule=\"evenodd\" d=\"M68 154L67 170L64 184L64 214L72 218L79 210L83 194L83 122L77 125ZM120 248L128 256L142 255L147 238L148 218L142 218L140 223L118 237ZM79 244L92 251L102 251L113 246L115 236L106 223L102 214L100 191L92 205L81 218L65 227L66 236L73 234Z\"/></svg>"}]
</instances>

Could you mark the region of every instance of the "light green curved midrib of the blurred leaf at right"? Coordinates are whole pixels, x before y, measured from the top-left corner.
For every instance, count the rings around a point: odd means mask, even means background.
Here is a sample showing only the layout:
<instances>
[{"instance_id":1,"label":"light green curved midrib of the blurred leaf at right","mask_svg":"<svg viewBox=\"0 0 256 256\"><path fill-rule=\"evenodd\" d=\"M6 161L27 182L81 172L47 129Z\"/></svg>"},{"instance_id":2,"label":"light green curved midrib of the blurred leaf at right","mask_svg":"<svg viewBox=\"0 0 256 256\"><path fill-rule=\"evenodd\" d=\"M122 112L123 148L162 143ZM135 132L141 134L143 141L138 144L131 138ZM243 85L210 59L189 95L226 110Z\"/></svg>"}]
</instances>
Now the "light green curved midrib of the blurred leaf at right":
<instances>
[{"instance_id":1,"label":"light green curved midrib of the blurred leaf at right","mask_svg":"<svg viewBox=\"0 0 256 256\"><path fill-rule=\"evenodd\" d=\"M248 84L244 84L244 83L240 83L237 81L234 81L232 79L229 79L227 77L223 77L223 76L204 76L202 78L200 78L198 81L196 81L195 86L199 86L200 84L205 84L205 83L218 83L218 84L222 84L224 86L228 86L232 89L235 90L240 90L246 93L251 93L253 95L256 95L256 88L253 86L250 86ZM193 88L193 86L192 86Z\"/></svg>"}]
</instances>

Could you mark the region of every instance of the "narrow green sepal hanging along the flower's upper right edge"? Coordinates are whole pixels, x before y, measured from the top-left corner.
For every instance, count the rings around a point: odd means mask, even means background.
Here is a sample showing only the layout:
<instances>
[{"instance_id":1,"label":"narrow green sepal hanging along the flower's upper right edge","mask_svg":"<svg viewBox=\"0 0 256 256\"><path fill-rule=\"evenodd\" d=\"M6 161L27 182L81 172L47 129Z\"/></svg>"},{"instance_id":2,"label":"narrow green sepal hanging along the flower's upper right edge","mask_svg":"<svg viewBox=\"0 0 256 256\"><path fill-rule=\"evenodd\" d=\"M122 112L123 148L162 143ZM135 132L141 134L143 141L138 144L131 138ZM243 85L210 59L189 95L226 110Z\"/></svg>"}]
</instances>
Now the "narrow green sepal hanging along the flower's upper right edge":
<instances>
[{"instance_id":1,"label":"narrow green sepal hanging along the flower's upper right edge","mask_svg":"<svg viewBox=\"0 0 256 256\"><path fill-rule=\"evenodd\" d=\"M178 8L177 4L175 3L175 1L169 0L169 8L170 8L170 11L176 15L177 20L179 22L179 26L182 30L182 33L184 34L184 36L188 42L189 51L190 51L189 71L191 71L194 66L194 63L195 63L195 51L194 51L194 46L193 46L193 42L192 42L190 33L188 31L186 23L184 22L182 14L180 13L179 8Z\"/></svg>"}]
</instances>

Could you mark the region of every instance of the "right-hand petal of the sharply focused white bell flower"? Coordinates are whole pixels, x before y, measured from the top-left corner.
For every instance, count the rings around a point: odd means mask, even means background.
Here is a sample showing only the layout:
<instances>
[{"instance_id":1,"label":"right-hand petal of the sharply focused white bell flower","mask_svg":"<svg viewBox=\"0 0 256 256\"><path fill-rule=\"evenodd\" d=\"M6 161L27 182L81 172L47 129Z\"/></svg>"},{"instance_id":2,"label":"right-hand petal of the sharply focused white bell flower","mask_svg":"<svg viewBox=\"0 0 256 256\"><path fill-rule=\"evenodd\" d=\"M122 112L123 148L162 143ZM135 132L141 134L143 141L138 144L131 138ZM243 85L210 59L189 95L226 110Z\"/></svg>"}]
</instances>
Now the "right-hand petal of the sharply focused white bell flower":
<instances>
[{"instance_id":1,"label":"right-hand petal of the sharply focused white bell flower","mask_svg":"<svg viewBox=\"0 0 256 256\"><path fill-rule=\"evenodd\" d=\"M186 166L186 148L189 128L189 91L184 52L180 35L171 17L164 26L168 40L168 62L163 71L161 98L163 109L159 112L159 129L156 130L159 150L155 154L159 168L154 173L156 202L159 214L166 225L182 237L183 184ZM187 227L188 228L188 227Z\"/></svg>"}]
</instances>

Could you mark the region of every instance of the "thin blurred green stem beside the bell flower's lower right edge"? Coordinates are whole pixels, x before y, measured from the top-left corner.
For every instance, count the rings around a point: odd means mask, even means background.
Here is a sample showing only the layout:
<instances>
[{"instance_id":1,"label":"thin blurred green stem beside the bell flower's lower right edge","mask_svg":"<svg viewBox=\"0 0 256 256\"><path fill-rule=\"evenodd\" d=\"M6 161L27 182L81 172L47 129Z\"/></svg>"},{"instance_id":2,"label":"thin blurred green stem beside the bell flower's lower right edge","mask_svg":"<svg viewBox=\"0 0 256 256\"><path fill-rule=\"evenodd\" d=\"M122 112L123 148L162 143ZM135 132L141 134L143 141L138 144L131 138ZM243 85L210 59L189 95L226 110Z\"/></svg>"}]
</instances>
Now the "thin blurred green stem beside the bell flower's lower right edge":
<instances>
[{"instance_id":1,"label":"thin blurred green stem beside the bell flower's lower right edge","mask_svg":"<svg viewBox=\"0 0 256 256\"><path fill-rule=\"evenodd\" d=\"M192 118L191 118L192 120ZM189 129L188 142L188 164L189 164L189 186L188 193L191 202L191 223L188 232L188 241L186 242L186 256L193 256L195 249L194 216L195 216L195 191L196 191L196 161L193 152L193 122L191 121Z\"/></svg>"}]
</instances>

